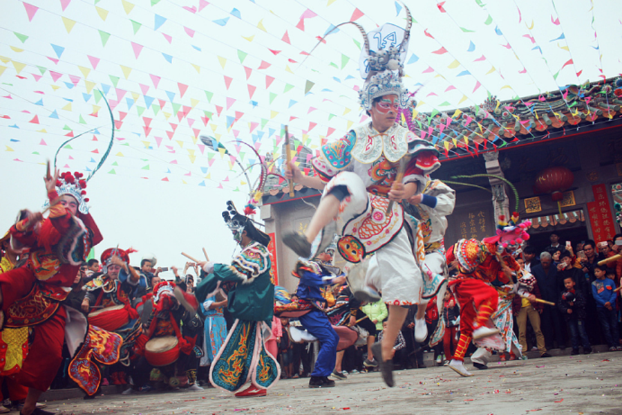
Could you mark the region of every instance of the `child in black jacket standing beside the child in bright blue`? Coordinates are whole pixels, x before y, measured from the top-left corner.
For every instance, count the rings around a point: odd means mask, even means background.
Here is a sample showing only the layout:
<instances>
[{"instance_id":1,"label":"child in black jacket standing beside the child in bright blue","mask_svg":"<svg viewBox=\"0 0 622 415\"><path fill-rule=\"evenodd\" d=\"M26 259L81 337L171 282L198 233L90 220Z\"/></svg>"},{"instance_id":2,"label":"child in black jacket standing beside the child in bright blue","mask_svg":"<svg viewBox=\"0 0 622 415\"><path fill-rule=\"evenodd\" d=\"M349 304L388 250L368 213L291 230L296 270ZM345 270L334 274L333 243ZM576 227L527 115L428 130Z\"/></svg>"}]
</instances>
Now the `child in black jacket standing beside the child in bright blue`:
<instances>
[{"instance_id":1,"label":"child in black jacket standing beside the child in bright blue","mask_svg":"<svg viewBox=\"0 0 622 415\"><path fill-rule=\"evenodd\" d=\"M572 338L572 352L570 354L578 354L579 338L583 343L583 354L592 353L590 340L587 339L587 332L585 331L585 319L587 318L585 293L576 287L576 282L572 276L565 277L564 286L565 290L560 294L558 307L570 329Z\"/></svg>"}]
</instances>

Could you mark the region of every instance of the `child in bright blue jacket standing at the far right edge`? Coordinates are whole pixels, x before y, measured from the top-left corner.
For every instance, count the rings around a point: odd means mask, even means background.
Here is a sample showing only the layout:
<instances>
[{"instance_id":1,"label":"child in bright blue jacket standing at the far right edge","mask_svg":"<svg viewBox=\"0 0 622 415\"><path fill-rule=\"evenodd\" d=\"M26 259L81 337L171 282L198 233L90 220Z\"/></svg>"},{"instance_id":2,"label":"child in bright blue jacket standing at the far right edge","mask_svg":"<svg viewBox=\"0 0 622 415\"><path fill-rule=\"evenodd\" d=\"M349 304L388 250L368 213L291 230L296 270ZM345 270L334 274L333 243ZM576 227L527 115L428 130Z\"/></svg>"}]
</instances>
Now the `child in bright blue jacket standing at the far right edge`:
<instances>
[{"instance_id":1,"label":"child in bright blue jacket standing at the far right edge","mask_svg":"<svg viewBox=\"0 0 622 415\"><path fill-rule=\"evenodd\" d=\"M622 350L618 335L618 321L616 315L616 284L607 278L607 266L594 266L594 282L592 282L592 295L596 300L596 313L609 344L609 351Z\"/></svg>"}]
</instances>

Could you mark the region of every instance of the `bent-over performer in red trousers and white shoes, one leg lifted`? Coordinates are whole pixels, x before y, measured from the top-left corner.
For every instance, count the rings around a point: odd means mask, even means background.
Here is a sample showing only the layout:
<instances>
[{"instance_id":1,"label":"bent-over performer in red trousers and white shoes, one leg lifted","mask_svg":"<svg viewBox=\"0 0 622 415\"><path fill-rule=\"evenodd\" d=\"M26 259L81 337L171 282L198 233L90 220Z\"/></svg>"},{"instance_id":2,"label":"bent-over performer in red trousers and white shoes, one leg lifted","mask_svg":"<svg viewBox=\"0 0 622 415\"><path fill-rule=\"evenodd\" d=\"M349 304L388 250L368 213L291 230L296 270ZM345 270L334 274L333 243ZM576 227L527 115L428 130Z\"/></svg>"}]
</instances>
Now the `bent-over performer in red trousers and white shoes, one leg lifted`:
<instances>
[{"instance_id":1,"label":"bent-over performer in red trousers and white shoes, one leg lifted","mask_svg":"<svg viewBox=\"0 0 622 415\"><path fill-rule=\"evenodd\" d=\"M498 293L491 282L499 280L503 284L511 283L511 277L505 273L497 255L495 243L484 243L475 239L460 239L446 254L447 263L458 262L458 276L449 282L456 299L460 303L460 340L449 367L462 376L471 376L464 369L462 362L471 340L492 340L497 344L498 330L493 328L491 315L498 305ZM504 255L502 261L511 270L520 266L510 256ZM486 344L489 346L490 344Z\"/></svg>"}]
</instances>

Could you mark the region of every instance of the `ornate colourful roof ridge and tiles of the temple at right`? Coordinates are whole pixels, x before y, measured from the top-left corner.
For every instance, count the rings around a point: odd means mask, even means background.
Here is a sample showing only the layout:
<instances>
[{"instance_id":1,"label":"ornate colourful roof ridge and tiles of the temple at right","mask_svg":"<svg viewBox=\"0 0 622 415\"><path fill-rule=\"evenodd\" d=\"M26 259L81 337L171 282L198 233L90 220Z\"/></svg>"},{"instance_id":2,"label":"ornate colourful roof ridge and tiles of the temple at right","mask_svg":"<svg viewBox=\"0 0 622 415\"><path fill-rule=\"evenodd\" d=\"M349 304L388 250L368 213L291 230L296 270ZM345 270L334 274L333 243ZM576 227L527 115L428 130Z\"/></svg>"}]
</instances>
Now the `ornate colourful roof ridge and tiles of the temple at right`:
<instances>
[{"instance_id":1,"label":"ornate colourful roof ridge and tiles of the temple at right","mask_svg":"<svg viewBox=\"0 0 622 415\"><path fill-rule=\"evenodd\" d=\"M505 101L492 95L479 106L449 112L419 113L408 108L402 112L402 122L432 142L443 154L440 158L447 160L526 140L545 140L559 131L565 134L568 127L579 129L597 120L608 122L616 113L622 114L621 107L622 77L613 77Z\"/></svg>"}]
</instances>

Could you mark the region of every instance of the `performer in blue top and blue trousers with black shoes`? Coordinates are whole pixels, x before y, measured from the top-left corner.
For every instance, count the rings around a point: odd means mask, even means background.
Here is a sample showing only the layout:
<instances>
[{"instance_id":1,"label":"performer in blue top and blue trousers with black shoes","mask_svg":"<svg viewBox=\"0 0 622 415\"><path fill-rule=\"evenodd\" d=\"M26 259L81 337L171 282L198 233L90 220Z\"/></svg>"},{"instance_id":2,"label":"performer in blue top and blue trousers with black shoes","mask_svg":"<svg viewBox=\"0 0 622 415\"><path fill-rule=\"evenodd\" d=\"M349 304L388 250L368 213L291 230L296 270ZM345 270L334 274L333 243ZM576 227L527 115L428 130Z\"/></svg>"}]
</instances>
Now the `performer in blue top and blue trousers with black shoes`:
<instances>
[{"instance_id":1,"label":"performer in blue top and blue trousers with black shoes","mask_svg":"<svg viewBox=\"0 0 622 415\"><path fill-rule=\"evenodd\" d=\"M299 320L303 327L320 342L317 362L310 374L309 387L312 388L334 386L334 380L329 379L328 376L332 374L337 359L339 335L334 331L326 316L324 311L326 299L320 288L332 284L341 285L346 282L346 277L341 274L339 268L332 266L332 252L334 248L329 247L319 253L314 261L299 259L296 268L292 271L294 277L300 278L296 289L300 308L308 309L308 312L301 315Z\"/></svg>"}]
</instances>

